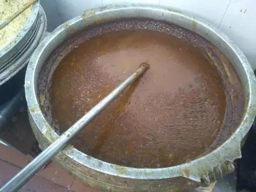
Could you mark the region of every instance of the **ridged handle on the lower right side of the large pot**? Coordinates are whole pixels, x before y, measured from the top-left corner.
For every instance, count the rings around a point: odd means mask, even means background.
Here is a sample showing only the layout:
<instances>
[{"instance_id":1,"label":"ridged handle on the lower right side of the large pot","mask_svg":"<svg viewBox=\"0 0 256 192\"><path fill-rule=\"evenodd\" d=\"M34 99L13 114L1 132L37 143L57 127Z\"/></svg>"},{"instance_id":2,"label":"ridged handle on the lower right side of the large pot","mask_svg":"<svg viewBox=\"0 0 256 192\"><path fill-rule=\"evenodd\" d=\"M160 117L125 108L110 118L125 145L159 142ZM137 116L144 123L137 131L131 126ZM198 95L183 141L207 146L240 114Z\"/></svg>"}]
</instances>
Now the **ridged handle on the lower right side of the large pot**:
<instances>
[{"instance_id":1,"label":"ridged handle on the lower right side of the large pot","mask_svg":"<svg viewBox=\"0 0 256 192\"><path fill-rule=\"evenodd\" d=\"M232 173L233 171L233 162L226 161L220 164L219 166L214 167L210 172L208 172L207 176L201 177L201 183L205 185L210 185L210 183L221 179L223 176Z\"/></svg>"}]
</instances>

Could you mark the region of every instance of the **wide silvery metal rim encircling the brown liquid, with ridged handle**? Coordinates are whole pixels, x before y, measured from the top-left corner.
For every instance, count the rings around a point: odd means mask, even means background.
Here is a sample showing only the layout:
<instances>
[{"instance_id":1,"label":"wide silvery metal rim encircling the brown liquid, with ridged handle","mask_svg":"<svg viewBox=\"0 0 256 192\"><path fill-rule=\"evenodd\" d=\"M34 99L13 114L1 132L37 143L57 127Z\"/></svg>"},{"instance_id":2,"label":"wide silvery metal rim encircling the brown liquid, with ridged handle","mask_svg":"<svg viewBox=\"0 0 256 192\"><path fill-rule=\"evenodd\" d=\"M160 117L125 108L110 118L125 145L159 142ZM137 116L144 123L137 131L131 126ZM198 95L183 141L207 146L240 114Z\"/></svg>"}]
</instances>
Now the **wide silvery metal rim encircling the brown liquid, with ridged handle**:
<instances>
[{"instance_id":1,"label":"wide silvery metal rim encircling the brown liquid, with ridged handle","mask_svg":"<svg viewBox=\"0 0 256 192\"><path fill-rule=\"evenodd\" d=\"M162 20L187 28L208 39L231 61L238 71L245 91L245 111L241 123L229 139L211 153L188 163L165 168L133 168L107 163L83 154L69 145L62 153L103 174L129 179L159 180L185 177L201 184L209 184L233 171L233 161L241 158L241 142L248 133L256 114L256 79L253 70L242 51L221 31L173 9L154 6L110 5L99 9L88 9L65 24L62 24L47 36L32 55L25 79L25 91L29 113L41 134L53 142L58 135L44 118L37 98L37 77L51 52L63 40L86 27L103 23L106 20L122 18L149 18Z\"/></svg>"}]
</instances>

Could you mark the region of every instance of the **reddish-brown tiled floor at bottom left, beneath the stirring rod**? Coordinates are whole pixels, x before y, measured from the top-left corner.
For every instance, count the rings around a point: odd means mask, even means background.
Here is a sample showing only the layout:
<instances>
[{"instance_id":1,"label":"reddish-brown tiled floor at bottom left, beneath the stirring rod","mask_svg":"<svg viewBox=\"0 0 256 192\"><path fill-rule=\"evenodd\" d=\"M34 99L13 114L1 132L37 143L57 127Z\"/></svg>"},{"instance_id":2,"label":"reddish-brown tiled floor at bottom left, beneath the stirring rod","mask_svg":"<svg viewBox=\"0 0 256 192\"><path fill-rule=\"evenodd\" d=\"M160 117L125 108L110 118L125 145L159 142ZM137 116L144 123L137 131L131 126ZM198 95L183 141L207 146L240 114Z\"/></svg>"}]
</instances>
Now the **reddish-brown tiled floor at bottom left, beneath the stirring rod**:
<instances>
[{"instance_id":1,"label":"reddish-brown tiled floor at bottom left, beneath the stirring rod","mask_svg":"<svg viewBox=\"0 0 256 192\"><path fill-rule=\"evenodd\" d=\"M0 186L3 186L32 159L29 155L23 155L12 148L0 144ZM20 191L100 192L74 179L54 162L51 162L45 169L40 170Z\"/></svg>"}]
</instances>

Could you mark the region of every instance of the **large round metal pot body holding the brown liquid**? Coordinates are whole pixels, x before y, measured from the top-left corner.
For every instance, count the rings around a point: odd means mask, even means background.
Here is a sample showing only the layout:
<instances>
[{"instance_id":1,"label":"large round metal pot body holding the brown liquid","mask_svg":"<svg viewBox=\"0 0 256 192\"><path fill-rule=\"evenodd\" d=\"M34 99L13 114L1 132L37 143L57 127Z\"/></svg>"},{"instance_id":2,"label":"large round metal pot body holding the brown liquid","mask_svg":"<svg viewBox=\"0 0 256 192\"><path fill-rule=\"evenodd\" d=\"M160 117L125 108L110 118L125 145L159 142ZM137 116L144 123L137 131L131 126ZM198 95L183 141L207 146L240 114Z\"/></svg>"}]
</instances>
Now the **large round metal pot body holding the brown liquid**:
<instances>
[{"instance_id":1,"label":"large round metal pot body holding the brown liquid","mask_svg":"<svg viewBox=\"0 0 256 192\"><path fill-rule=\"evenodd\" d=\"M35 50L26 73L26 98L30 123L42 149L58 135L42 114L37 96L39 72L47 57L67 37L86 27L119 18L151 18L187 28L208 39L231 61L237 70L246 95L244 116L236 132L215 151L181 165L166 168L131 168L103 162L67 146L54 160L68 173L88 185L108 191L187 191L197 186L206 186L233 171L233 161L241 158L241 143L256 114L256 79L239 48L223 33L175 10L150 6L106 6L86 10L61 25L46 37Z\"/></svg>"}]
</instances>

